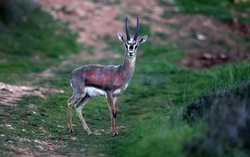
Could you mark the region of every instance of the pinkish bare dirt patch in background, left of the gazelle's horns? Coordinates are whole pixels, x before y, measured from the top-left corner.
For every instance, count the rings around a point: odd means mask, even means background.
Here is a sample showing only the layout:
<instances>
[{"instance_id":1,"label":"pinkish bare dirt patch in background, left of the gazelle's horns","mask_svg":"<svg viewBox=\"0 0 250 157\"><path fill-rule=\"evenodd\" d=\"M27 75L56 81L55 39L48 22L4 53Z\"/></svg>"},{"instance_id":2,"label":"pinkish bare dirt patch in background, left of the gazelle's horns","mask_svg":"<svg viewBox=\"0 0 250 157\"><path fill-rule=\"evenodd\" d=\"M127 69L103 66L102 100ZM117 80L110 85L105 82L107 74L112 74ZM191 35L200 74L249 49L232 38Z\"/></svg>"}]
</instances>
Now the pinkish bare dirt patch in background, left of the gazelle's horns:
<instances>
[{"instance_id":1,"label":"pinkish bare dirt patch in background, left of the gazelle's horns","mask_svg":"<svg viewBox=\"0 0 250 157\"><path fill-rule=\"evenodd\" d=\"M116 21L119 8L92 1L80 0L37 0L55 19L68 22L72 30L79 33L78 41L99 49L105 42L99 38L116 34L122 23ZM108 17L108 18L107 18Z\"/></svg>"}]
</instances>

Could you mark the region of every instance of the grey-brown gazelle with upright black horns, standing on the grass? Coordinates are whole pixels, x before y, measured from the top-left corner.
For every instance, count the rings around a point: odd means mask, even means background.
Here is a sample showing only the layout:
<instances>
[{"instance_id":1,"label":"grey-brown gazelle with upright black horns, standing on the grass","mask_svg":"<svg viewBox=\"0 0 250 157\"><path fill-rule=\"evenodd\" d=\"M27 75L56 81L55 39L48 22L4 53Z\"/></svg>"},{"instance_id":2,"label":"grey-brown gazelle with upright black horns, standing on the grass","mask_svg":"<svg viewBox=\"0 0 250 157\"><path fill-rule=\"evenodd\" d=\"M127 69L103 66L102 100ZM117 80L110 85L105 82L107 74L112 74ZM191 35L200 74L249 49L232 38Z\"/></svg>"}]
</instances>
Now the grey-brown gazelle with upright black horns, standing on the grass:
<instances>
[{"instance_id":1,"label":"grey-brown gazelle with upright black horns, standing on the grass","mask_svg":"<svg viewBox=\"0 0 250 157\"><path fill-rule=\"evenodd\" d=\"M139 35L139 19L137 17L136 32L133 38L129 35L127 18L125 19L126 39L119 32L118 39L125 46L124 61L121 65L91 64L81 66L71 73L70 84L73 96L68 100L68 129L72 129L72 106L75 104L77 115L88 134L92 134L82 115L82 108L88 100L96 96L106 96L111 116L112 135L118 135L116 117L119 96L127 89L135 70L137 48L147 40L147 36L137 39Z\"/></svg>"}]
</instances>

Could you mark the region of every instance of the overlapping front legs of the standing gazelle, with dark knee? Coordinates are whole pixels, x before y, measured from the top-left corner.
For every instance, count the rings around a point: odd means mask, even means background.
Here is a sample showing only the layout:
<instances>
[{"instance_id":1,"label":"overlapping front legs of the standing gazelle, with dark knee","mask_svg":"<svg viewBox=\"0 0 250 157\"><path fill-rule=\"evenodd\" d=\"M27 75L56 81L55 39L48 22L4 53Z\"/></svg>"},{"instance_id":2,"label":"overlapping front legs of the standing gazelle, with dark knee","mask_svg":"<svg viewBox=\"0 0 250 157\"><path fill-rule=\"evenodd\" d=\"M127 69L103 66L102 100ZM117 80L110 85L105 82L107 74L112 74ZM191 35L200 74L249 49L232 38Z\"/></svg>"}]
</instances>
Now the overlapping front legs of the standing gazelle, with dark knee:
<instances>
[{"instance_id":1,"label":"overlapping front legs of the standing gazelle, with dark knee","mask_svg":"<svg viewBox=\"0 0 250 157\"><path fill-rule=\"evenodd\" d=\"M107 99L108 99L108 107L110 111L110 117L111 117L111 132L113 136L118 135L117 129L116 129L116 117L117 117L117 97L114 97L113 94L110 92L107 93Z\"/></svg>"}]
</instances>

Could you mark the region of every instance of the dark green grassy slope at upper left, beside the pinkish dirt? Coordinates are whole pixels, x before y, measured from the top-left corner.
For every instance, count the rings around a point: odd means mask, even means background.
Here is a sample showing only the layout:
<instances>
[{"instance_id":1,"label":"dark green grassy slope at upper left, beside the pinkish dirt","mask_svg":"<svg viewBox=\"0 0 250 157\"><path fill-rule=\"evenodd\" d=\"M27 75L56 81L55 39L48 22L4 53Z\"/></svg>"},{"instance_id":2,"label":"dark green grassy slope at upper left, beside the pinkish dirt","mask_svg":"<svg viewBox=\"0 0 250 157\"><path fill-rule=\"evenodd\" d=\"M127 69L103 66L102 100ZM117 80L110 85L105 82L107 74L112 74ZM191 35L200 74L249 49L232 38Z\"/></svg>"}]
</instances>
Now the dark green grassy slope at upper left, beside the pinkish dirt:
<instances>
[{"instance_id":1,"label":"dark green grassy slope at upper left, beside the pinkish dirt","mask_svg":"<svg viewBox=\"0 0 250 157\"><path fill-rule=\"evenodd\" d=\"M80 50L76 34L39 8L25 20L13 20L0 30L0 81L16 82L27 73L58 64L63 56Z\"/></svg>"}]
</instances>

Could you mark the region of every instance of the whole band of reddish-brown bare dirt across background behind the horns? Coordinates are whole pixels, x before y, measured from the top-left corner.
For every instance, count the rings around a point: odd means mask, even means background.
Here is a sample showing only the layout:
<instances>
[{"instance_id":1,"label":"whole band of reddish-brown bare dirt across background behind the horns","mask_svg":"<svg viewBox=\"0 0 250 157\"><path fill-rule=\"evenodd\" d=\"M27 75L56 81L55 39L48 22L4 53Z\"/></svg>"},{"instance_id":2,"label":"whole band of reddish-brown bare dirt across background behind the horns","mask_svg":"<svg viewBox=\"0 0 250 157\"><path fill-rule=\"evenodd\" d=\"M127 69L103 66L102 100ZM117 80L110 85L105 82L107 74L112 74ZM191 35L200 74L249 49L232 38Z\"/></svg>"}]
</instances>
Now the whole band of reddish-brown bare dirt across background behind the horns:
<instances>
[{"instance_id":1,"label":"whole band of reddish-brown bare dirt across background behind the horns","mask_svg":"<svg viewBox=\"0 0 250 157\"><path fill-rule=\"evenodd\" d=\"M135 25L134 16L139 15L141 23L149 25L151 42L175 43L187 52L180 62L184 66L204 68L247 56L246 44L239 41L241 35L249 34L248 26L237 21L226 24L203 15L180 14L174 0L165 1L165 5L157 0L36 1L54 18L69 23L78 32L78 41L92 47L95 53L107 47L105 36L115 39L116 33L123 31L125 16Z\"/></svg>"}]
</instances>

